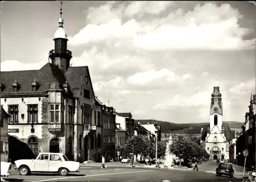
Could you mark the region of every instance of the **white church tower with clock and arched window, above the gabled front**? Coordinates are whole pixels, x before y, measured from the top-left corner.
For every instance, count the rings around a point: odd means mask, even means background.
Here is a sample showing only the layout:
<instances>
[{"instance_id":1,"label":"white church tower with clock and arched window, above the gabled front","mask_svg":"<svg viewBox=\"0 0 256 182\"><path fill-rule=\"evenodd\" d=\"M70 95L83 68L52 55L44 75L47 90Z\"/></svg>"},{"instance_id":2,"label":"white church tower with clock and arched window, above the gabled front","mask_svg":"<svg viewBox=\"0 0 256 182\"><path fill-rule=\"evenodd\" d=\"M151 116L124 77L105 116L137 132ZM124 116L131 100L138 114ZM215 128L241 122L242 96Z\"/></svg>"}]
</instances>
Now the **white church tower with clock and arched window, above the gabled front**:
<instances>
[{"instance_id":1,"label":"white church tower with clock and arched window, above the gabled front","mask_svg":"<svg viewBox=\"0 0 256 182\"><path fill-rule=\"evenodd\" d=\"M211 94L210 103L210 133L221 133L223 115L221 100L220 86L216 78L214 92Z\"/></svg>"}]
</instances>

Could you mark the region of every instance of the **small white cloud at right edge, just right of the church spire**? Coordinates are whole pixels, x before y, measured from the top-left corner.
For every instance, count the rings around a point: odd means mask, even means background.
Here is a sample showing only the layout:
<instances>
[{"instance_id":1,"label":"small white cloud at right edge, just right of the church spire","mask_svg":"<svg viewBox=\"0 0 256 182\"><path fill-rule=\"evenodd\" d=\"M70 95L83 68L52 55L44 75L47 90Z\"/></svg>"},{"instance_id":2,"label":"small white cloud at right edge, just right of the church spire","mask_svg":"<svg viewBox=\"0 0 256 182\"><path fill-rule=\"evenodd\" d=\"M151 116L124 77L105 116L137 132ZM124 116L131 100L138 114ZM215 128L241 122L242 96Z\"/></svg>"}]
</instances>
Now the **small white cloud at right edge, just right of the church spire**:
<instances>
[{"instance_id":1,"label":"small white cloud at right edge, just right of the church spire","mask_svg":"<svg viewBox=\"0 0 256 182\"><path fill-rule=\"evenodd\" d=\"M231 88L229 88L229 91L234 95L241 95L246 92L254 92L255 90L255 77L248 80L247 82L241 82L238 84L233 85Z\"/></svg>"}]
</instances>

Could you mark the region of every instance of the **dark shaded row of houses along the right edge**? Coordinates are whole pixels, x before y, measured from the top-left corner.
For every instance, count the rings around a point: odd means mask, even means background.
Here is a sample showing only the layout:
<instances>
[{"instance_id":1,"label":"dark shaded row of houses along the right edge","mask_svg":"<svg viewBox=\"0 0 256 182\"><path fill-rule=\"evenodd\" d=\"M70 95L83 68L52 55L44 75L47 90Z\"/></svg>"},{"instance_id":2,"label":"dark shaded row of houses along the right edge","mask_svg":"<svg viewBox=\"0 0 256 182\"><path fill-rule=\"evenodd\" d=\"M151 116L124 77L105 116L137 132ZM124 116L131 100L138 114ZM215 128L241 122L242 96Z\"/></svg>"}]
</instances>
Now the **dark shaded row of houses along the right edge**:
<instances>
[{"instance_id":1,"label":"dark shaded row of houses along the right edge","mask_svg":"<svg viewBox=\"0 0 256 182\"><path fill-rule=\"evenodd\" d=\"M249 167L255 164L255 94L251 94L250 105L248 106L248 112L245 113L245 122L242 125L243 133L237 139L236 153L238 154L238 164L243 166L245 157L243 155L244 150L248 150L246 166Z\"/></svg>"}]
</instances>

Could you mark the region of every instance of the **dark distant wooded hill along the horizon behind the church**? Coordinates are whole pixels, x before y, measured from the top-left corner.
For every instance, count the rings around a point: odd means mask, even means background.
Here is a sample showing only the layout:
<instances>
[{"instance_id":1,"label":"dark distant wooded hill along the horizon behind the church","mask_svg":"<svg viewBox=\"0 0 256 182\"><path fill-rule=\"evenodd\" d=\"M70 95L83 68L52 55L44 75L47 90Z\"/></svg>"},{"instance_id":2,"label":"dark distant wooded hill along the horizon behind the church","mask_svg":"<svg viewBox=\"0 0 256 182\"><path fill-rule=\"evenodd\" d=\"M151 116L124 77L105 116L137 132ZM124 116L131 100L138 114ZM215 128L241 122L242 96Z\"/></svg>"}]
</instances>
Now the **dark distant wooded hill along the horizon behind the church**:
<instances>
[{"instance_id":1,"label":"dark distant wooded hill along the horizon behind the church","mask_svg":"<svg viewBox=\"0 0 256 182\"><path fill-rule=\"evenodd\" d=\"M200 134L201 127L209 123L171 123L167 121L158 121L158 120L135 120L136 123L140 124L147 123L156 123L161 125L162 133L186 133L186 134ZM227 123L229 128L233 131L234 128L237 128L237 134L241 132L241 125L243 123L237 121L224 121Z\"/></svg>"}]
</instances>

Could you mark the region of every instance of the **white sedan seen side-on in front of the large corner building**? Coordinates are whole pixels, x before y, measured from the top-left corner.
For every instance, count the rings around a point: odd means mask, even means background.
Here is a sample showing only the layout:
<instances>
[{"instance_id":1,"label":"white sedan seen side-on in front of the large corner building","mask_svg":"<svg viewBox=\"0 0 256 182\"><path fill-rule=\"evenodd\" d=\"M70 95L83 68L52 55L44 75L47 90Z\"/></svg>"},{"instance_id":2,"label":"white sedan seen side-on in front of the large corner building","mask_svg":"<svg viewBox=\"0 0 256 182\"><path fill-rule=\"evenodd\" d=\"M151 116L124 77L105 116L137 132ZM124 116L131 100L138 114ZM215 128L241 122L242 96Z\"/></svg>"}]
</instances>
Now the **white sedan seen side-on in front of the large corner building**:
<instances>
[{"instance_id":1,"label":"white sedan seen side-on in front of the large corner building","mask_svg":"<svg viewBox=\"0 0 256 182\"><path fill-rule=\"evenodd\" d=\"M14 169L18 170L20 175L28 175L31 172L58 172L61 176L67 176L69 172L79 172L80 168L78 162L69 161L63 153L41 152L35 160L17 160L14 163Z\"/></svg>"}]
</instances>

